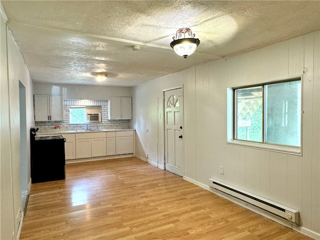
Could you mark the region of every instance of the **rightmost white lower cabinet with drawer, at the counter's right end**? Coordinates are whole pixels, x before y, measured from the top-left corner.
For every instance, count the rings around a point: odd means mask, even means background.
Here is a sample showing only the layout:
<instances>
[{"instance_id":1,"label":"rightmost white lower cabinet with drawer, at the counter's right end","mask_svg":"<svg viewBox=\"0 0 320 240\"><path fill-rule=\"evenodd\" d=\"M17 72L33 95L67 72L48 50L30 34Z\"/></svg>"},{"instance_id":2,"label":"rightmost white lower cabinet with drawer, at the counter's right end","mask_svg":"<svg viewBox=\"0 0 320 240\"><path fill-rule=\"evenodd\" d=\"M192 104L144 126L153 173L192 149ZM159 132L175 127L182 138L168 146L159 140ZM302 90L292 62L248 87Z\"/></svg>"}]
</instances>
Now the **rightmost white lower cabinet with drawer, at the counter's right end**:
<instances>
[{"instance_id":1,"label":"rightmost white lower cabinet with drawer, at the counter's right end","mask_svg":"<svg viewBox=\"0 0 320 240\"><path fill-rule=\"evenodd\" d=\"M133 153L133 131L115 132L115 154Z\"/></svg>"}]
</instances>

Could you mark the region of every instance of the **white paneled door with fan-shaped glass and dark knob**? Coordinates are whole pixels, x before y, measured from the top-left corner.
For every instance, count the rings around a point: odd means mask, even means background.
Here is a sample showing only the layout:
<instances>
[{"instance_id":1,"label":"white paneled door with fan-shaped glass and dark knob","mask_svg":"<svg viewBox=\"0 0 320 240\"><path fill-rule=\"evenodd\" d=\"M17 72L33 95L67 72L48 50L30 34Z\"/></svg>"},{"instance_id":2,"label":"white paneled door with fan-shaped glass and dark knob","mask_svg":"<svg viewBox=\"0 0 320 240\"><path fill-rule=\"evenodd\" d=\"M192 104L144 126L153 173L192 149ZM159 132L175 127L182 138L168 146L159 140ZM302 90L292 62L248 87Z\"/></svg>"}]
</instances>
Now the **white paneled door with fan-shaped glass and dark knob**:
<instances>
[{"instance_id":1,"label":"white paneled door with fan-shaped glass and dark knob","mask_svg":"<svg viewBox=\"0 0 320 240\"><path fill-rule=\"evenodd\" d=\"M164 91L165 169L183 176L182 88Z\"/></svg>"}]
</instances>

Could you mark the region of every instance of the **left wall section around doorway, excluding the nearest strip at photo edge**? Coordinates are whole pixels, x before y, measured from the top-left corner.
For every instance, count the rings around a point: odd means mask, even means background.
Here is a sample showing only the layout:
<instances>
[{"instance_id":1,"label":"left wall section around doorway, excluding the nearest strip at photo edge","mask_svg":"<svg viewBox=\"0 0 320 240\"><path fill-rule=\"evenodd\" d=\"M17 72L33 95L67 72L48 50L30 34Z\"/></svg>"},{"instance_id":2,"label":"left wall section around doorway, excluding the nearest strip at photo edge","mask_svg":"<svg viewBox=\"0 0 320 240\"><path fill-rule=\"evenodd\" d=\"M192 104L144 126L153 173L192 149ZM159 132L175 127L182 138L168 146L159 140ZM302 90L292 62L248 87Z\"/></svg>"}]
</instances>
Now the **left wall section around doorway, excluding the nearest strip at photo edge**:
<instances>
[{"instance_id":1,"label":"left wall section around doorway, excluding the nearest strip at photo edge","mask_svg":"<svg viewBox=\"0 0 320 240\"><path fill-rule=\"evenodd\" d=\"M7 32L8 48L8 83L9 83L9 106L10 106L10 133L11 133L11 164L12 164L12 188L13 188L13 206L15 217L15 230L17 231L20 218L23 214L21 201L21 170L20 170L20 146L23 144L27 151L27 160L23 162L23 167L27 173L27 179L30 179L30 149L29 149L29 129L34 124L33 100L32 100L32 81L29 71L24 63L21 53L16 45L11 32ZM25 87L25 107L26 107L26 129L20 127L20 106L19 106L19 81ZM21 131L26 136L26 142L20 142ZM27 181L27 179L25 179ZM27 192L30 189L27 189Z\"/></svg>"}]
</instances>

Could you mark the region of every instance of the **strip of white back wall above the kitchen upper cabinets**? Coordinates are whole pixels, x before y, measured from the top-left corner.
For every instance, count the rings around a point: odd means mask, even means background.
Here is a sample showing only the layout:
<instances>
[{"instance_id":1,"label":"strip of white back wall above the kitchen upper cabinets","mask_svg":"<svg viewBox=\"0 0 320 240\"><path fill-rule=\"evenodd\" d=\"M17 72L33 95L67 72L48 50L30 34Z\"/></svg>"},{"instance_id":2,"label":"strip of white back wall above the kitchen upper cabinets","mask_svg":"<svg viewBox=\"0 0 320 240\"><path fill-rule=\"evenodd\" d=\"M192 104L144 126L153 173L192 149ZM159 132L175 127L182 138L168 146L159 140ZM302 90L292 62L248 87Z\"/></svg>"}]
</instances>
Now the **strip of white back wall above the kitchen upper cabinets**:
<instances>
[{"instance_id":1,"label":"strip of white back wall above the kitchen upper cabinets","mask_svg":"<svg viewBox=\"0 0 320 240\"><path fill-rule=\"evenodd\" d=\"M34 94L63 95L64 99L109 100L110 96L131 96L131 87L33 83Z\"/></svg>"}]
</instances>

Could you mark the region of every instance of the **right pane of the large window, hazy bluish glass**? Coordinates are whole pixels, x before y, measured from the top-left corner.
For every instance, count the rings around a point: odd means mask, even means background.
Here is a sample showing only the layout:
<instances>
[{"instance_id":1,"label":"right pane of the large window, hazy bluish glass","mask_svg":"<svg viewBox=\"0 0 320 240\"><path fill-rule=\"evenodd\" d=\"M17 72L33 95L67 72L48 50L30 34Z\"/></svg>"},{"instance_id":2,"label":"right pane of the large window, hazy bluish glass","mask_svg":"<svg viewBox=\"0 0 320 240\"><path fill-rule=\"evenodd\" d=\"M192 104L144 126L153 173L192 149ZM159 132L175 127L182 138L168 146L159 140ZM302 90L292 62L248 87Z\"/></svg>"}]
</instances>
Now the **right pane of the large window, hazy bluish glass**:
<instances>
[{"instance_id":1,"label":"right pane of the large window, hazy bluish glass","mask_svg":"<svg viewBox=\"0 0 320 240\"><path fill-rule=\"evenodd\" d=\"M301 81L265 86L265 142L300 146Z\"/></svg>"}]
</instances>

